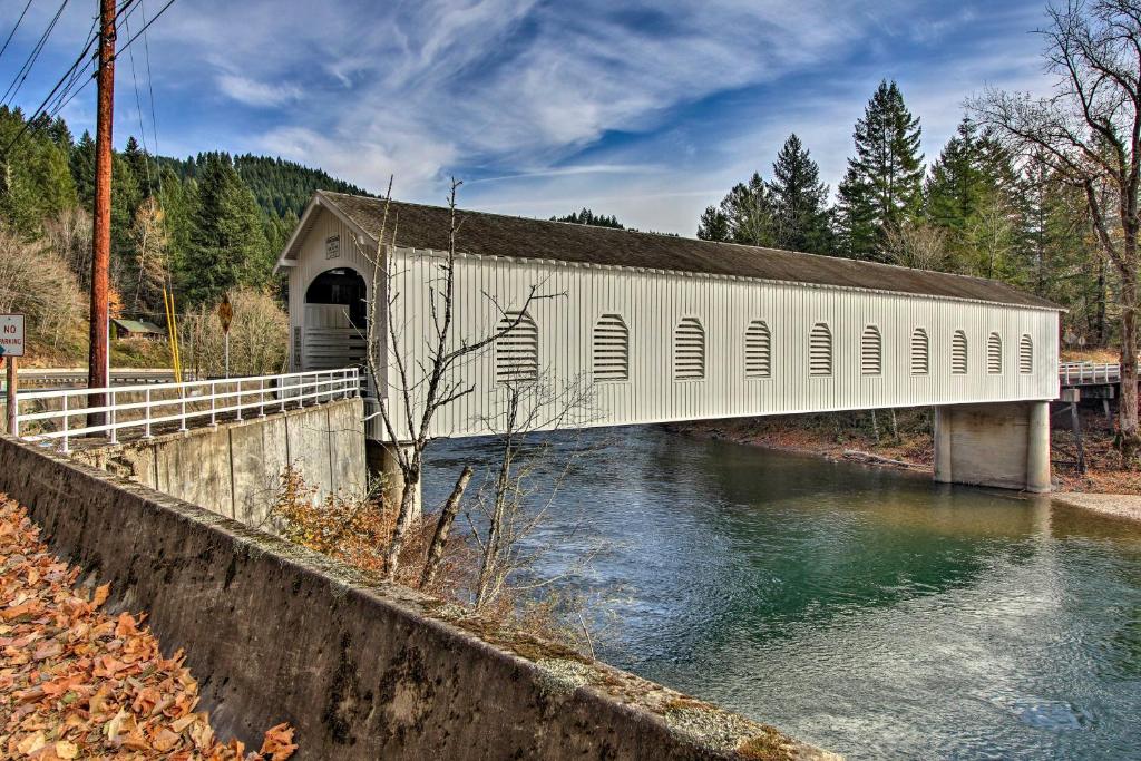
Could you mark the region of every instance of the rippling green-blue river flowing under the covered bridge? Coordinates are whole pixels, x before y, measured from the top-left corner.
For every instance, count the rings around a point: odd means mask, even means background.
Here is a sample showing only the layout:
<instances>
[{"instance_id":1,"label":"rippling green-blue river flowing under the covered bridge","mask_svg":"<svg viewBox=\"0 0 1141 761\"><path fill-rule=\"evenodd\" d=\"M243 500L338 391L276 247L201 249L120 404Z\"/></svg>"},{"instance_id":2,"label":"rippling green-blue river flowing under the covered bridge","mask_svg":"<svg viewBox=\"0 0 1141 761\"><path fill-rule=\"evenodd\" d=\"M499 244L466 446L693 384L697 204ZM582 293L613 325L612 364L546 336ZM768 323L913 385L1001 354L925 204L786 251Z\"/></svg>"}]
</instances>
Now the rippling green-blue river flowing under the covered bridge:
<instances>
[{"instance_id":1,"label":"rippling green-blue river flowing under the covered bridge","mask_svg":"<svg viewBox=\"0 0 1141 761\"><path fill-rule=\"evenodd\" d=\"M1141 527L653 427L545 442L536 573L605 600L601 659L850 759L1141 759ZM438 444L426 504L493 458Z\"/></svg>"}]
</instances>

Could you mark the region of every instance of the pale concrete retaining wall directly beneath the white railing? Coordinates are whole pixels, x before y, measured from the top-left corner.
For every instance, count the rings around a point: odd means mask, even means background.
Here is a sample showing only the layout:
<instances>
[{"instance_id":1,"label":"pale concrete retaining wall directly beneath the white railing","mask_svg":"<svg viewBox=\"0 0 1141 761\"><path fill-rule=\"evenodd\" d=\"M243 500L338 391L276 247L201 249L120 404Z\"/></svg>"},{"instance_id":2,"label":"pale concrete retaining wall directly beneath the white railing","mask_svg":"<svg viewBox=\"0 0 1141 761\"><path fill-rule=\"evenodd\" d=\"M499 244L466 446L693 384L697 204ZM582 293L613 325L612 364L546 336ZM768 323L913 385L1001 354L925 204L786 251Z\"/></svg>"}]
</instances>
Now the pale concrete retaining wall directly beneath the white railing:
<instances>
[{"instance_id":1,"label":"pale concrete retaining wall directly beneath the white railing","mask_svg":"<svg viewBox=\"0 0 1141 761\"><path fill-rule=\"evenodd\" d=\"M164 494L260 526L282 470L299 468L317 499L366 481L364 407L359 398L80 450L75 459Z\"/></svg>"}]
</instances>

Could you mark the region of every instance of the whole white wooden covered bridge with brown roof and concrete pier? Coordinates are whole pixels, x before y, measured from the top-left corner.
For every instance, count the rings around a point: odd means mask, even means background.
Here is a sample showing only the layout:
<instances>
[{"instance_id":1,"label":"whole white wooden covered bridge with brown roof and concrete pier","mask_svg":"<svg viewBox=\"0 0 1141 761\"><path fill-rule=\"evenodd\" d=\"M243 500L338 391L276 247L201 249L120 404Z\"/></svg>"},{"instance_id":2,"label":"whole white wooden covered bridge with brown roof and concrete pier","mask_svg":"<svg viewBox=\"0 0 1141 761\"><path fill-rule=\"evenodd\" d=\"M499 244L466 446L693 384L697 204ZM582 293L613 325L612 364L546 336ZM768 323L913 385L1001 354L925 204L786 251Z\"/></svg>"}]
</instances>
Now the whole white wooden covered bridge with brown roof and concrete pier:
<instances>
[{"instance_id":1,"label":"whole white wooden covered bridge with brown roof and concrete pier","mask_svg":"<svg viewBox=\"0 0 1141 761\"><path fill-rule=\"evenodd\" d=\"M378 246L402 351L423 358L448 210L394 201L381 240L383 211L327 192L306 209L277 262L294 370L363 363L365 305L382 318L387 298L369 293ZM589 424L933 406L938 480L1049 488L1060 310L1049 301L961 275L460 213L456 339L517 324L464 364L476 390L442 412L438 435L487 434L502 383L539 378L589 381ZM536 285L559 297L517 316ZM397 386L386 372L381 395Z\"/></svg>"}]
</instances>

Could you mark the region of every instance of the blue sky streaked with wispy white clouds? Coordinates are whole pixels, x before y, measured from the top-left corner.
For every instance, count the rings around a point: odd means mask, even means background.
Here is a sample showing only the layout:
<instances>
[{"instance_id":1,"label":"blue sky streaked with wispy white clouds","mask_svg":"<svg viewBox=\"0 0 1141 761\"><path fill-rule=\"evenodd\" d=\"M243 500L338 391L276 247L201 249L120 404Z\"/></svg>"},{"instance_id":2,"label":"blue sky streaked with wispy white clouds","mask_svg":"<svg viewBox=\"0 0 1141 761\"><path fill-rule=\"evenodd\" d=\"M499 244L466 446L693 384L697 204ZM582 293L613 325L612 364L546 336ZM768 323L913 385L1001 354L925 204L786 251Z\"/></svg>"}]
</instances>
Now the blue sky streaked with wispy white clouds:
<instances>
[{"instance_id":1,"label":"blue sky streaked with wispy white clouds","mask_svg":"<svg viewBox=\"0 0 1141 761\"><path fill-rule=\"evenodd\" d=\"M24 2L0 0L0 34ZM68 2L16 103L42 100L96 5ZM162 5L144 0L131 29ZM33 0L0 57L5 87L58 7ZM177 0L148 34L159 151L281 155L373 191L395 173L397 197L426 203L442 202L455 175L468 208L548 217L588 205L693 235L734 183L769 176L792 131L834 188L882 78L922 119L929 161L965 97L1044 90L1031 33L1044 10L1043 0ZM129 54L116 74L122 145L139 132ZM76 135L92 128L94 90L64 112Z\"/></svg>"}]
</instances>

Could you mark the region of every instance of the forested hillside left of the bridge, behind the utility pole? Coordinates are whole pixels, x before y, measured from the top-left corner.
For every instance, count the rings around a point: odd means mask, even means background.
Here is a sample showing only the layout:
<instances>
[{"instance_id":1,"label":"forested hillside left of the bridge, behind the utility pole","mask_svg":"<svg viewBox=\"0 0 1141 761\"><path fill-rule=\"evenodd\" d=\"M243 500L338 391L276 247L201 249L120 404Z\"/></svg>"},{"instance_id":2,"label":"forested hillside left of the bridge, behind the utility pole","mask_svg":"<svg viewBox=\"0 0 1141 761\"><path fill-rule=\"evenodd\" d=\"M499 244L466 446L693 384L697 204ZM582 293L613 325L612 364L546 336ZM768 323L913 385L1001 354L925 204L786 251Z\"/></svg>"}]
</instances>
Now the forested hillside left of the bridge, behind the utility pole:
<instances>
[{"instance_id":1,"label":"forested hillside left of the bridge, behind the utility pole","mask_svg":"<svg viewBox=\"0 0 1141 761\"><path fill-rule=\"evenodd\" d=\"M18 108L0 107L0 143L24 127ZM0 187L7 245L54 254L80 294L90 277L94 162L89 133L76 139L62 119L42 119L7 157ZM316 189L365 193L281 159L155 157L128 139L113 157L113 308L161 322L164 283L180 309L212 305L229 288L272 286L274 260Z\"/></svg>"}]
</instances>

